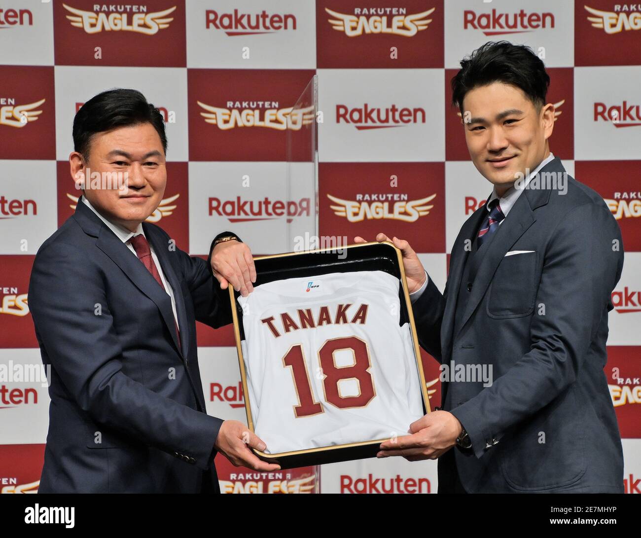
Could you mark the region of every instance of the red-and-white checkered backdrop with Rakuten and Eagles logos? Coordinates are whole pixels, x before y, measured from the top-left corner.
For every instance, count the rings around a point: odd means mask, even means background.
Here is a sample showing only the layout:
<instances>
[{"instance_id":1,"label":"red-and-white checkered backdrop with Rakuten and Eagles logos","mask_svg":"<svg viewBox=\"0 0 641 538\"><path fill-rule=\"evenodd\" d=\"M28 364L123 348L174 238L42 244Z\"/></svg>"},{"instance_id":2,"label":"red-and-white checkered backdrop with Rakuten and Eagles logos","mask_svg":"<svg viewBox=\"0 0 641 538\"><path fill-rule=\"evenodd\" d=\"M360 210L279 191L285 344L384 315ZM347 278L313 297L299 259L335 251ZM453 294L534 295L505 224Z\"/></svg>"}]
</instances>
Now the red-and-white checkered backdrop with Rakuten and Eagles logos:
<instances>
[{"instance_id":1,"label":"red-and-white checkered backdrop with Rakuten and Eagles logos","mask_svg":"<svg viewBox=\"0 0 641 538\"><path fill-rule=\"evenodd\" d=\"M168 185L150 220L179 248L206 255L215 233L233 230L254 253L274 253L287 249L284 223L315 218L309 197L291 211L278 202L288 196L283 117L317 74L320 235L406 238L443 289L454 238L491 190L469 160L449 80L463 56L496 39L544 60L551 150L606 199L623 233L605 374L626 491L640 492L641 4L612 0L0 0L2 491L35 491L42 468L47 388L12 372L40 364L29 273L76 203L67 158L83 102L129 87L162 110ZM403 209L424 199L428 214ZM336 210L346 203L356 209ZM231 328L199 326L198 341L208 412L244 420ZM438 405L436 362L424 363ZM437 489L435 462L260 475L221 460L224 491Z\"/></svg>"}]
</instances>

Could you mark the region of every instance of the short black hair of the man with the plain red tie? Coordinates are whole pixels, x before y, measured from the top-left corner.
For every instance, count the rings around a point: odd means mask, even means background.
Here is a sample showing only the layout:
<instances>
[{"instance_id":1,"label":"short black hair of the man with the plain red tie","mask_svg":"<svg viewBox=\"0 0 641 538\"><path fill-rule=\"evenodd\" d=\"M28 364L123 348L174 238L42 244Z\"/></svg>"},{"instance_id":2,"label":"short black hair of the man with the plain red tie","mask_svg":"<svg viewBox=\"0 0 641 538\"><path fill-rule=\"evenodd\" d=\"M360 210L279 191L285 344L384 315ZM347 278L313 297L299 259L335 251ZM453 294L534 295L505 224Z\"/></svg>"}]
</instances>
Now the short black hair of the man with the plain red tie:
<instances>
[{"instance_id":1,"label":"short black hair of the man with the plain red tie","mask_svg":"<svg viewBox=\"0 0 641 538\"><path fill-rule=\"evenodd\" d=\"M166 154L165 119L160 110L147 103L146 97L138 90L106 90L89 99L76 112L73 129L74 151L78 151L87 161L93 135L140 123L153 125Z\"/></svg>"}]
</instances>

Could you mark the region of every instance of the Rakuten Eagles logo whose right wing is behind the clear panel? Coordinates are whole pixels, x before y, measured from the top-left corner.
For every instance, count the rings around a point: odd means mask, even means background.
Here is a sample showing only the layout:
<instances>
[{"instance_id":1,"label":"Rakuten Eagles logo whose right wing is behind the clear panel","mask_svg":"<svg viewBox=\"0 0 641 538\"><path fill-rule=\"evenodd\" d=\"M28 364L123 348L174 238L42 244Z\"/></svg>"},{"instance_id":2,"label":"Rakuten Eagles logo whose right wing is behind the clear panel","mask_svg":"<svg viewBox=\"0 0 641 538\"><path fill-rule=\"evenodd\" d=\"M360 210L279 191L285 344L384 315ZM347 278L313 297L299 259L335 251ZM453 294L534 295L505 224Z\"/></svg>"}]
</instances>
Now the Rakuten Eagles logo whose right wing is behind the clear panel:
<instances>
[{"instance_id":1,"label":"Rakuten Eagles logo whose right wing is behind the clear panel","mask_svg":"<svg viewBox=\"0 0 641 538\"><path fill-rule=\"evenodd\" d=\"M196 101L206 112L201 112L204 121L222 131L239 127L266 127L277 131L299 131L313 123L313 106L281 108L278 101L227 101L226 107L207 105Z\"/></svg>"}]
</instances>

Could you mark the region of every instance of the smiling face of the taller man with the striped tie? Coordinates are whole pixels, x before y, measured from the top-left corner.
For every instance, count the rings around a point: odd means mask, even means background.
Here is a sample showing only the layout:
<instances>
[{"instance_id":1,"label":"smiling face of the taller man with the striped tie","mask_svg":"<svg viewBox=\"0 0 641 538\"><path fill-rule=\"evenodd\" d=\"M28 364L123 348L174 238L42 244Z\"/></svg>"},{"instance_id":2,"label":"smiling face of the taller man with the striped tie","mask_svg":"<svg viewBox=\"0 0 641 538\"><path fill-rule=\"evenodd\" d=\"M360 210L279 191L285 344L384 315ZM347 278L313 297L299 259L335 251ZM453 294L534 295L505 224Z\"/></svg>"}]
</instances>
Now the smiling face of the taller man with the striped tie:
<instances>
[{"instance_id":1,"label":"smiling face of the taller man with the striped tie","mask_svg":"<svg viewBox=\"0 0 641 538\"><path fill-rule=\"evenodd\" d=\"M502 196L518 172L526 176L526 168L533 171L547 156L554 106L537 112L520 88L494 82L465 94L463 123L474 166Z\"/></svg>"}]
</instances>

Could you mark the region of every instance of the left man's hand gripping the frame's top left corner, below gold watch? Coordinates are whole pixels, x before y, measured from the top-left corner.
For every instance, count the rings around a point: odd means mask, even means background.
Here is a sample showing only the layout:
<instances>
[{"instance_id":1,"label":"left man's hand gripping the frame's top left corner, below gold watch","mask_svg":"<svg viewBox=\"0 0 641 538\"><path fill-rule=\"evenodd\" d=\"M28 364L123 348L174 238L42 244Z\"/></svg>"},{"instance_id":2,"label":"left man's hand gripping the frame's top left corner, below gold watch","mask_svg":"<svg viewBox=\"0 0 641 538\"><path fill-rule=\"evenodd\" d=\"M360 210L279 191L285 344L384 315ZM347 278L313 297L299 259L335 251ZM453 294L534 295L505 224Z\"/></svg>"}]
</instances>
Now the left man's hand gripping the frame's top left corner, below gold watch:
<instances>
[{"instance_id":1,"label":"left man's hand gripping the frame's top left corner, below gold watch","mask_svg":"<svg viewBox=\"0 0 641 538\"><path fill-rule=\"evenodd\" d=\"M232 239L217 244L212 251L212 271L223 290L229 283L243 297L254 290L252 283L256 282L256 267L245 243Z\"/></svg>"}]
</instances>

